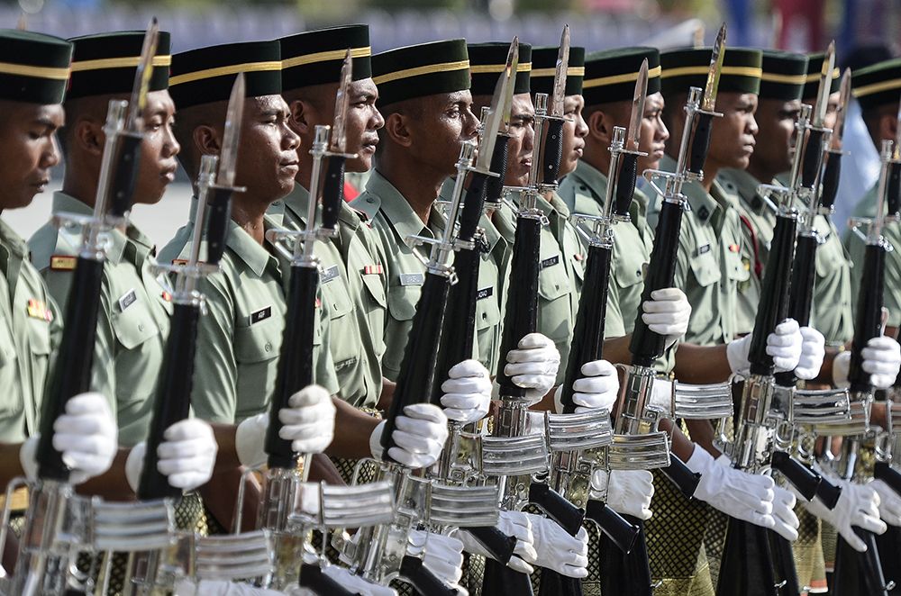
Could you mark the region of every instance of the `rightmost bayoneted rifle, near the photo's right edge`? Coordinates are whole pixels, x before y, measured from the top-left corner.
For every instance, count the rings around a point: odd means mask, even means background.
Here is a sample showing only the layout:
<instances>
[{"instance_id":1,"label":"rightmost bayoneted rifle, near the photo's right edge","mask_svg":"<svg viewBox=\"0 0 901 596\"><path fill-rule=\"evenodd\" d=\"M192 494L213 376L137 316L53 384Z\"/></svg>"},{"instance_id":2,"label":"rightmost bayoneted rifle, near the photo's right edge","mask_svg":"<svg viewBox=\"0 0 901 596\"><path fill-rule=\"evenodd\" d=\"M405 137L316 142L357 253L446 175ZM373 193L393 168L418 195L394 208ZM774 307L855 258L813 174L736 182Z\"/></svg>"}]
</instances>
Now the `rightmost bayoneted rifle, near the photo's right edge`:
<instances>
[{"instance_id":1,"label":"rightmost bayoneted rifle, near the photo's right edge","mask_svg":"<svg viewBox=\"0 0 901 596\"><path fill-rule=\"evenodd\" d=\"M901 154L897 141L883 140L880 158L882 168L876 200L875 216L869 221L856 219L851 221L851 230L865 237L867 248L864 255L863 275L860 278L858 309L854 325L854 339L851 343L851 367L848 380L851 382L851 423L836 425L833 435L842 436L841 455L833 461L834 469L845 480L855 479L854 467L857 463L860 444L874 438L875 429L869 424L870 406L874 399L873 385L869 374L861 368L862 349L867 342L882 333L883 293L885 291L885 259L891 245L882 236L882 228L886 223L886 207L890 188L893 164L901 162ZM868 226L864 235L860 226ZM887 472L885 468L882 472ZM833 573L832 591L836 596L846 594L883 594L894 587L894 582L886 582L879 564L879 552L876 537L872 532L854 528L854 532L867 545L865 553L853 550L843 539L839 539L835 555L835 572Z\"/></svg>"}]
</instances>

